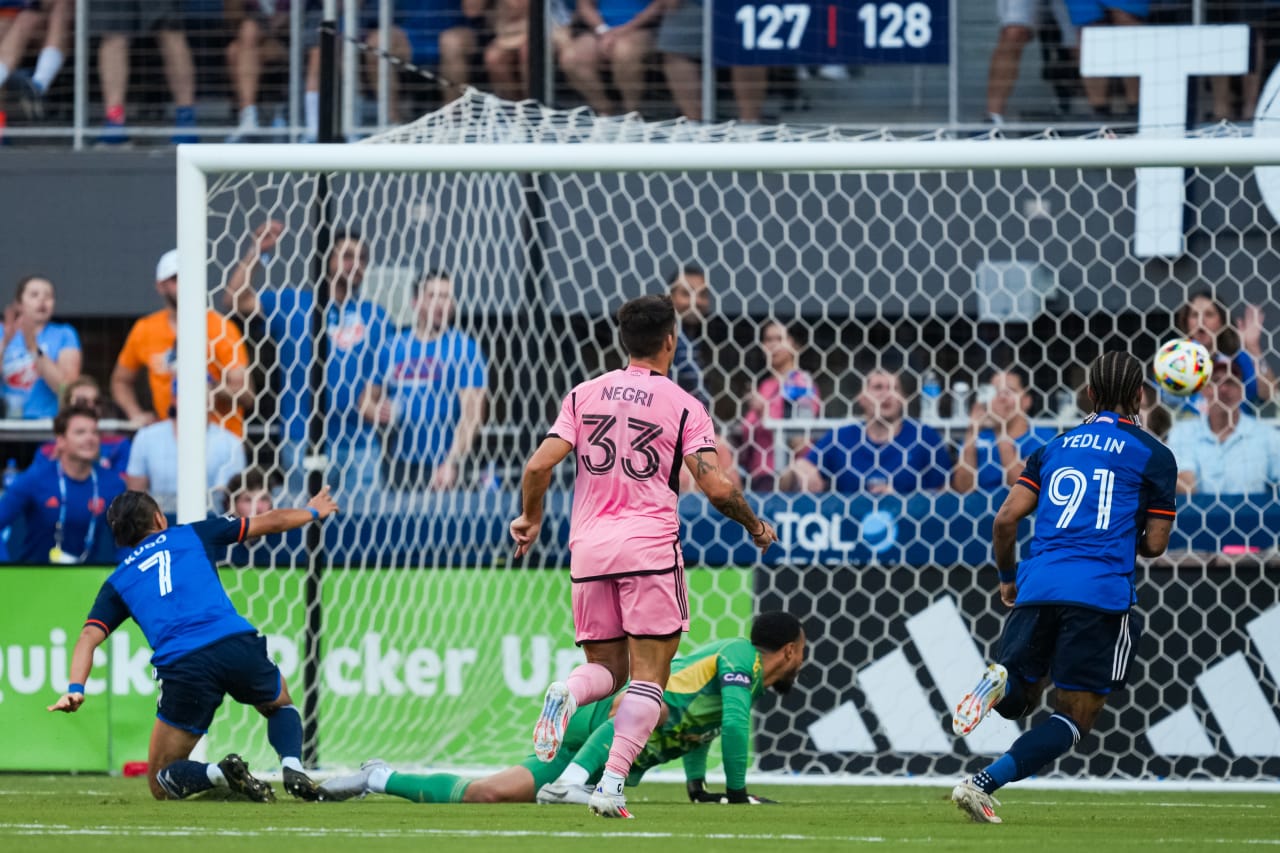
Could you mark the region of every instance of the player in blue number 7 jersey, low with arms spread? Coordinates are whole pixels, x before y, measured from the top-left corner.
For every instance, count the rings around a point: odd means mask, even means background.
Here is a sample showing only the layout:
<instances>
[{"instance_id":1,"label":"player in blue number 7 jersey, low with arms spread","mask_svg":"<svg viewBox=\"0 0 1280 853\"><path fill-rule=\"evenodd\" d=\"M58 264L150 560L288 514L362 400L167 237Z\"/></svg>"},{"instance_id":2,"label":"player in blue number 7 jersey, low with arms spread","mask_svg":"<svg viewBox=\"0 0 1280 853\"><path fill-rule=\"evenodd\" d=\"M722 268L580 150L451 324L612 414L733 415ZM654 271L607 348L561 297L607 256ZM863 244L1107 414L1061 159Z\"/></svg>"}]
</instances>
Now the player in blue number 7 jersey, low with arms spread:
<instances>
[{"instance_id":1,"label":"player in blue number 7 jersey, low with arms spread","mask_svg":"<svg viewBox=\"0 0 1280 853\"><path fill-rule=\"evenodd\" d=\"M170 528L150 494L125 492L115 498L106 523L116 544L132 551L102 584L72 653L70 686L49 710L79 710L93 651L132 616L151 644L160 686L147 756L152 797L180 799L225 786L257 802L275 799L271 786L251 776L239 756L216 765L187 760L223 697L230 694L266 717L268 740L284 767L284 789L302 799L319 799L320 789L302 770L302 717L266 653L266 639L227 597L214 553L253 537L319 523L337 511L325 488L302 510Z\"/></svg>"}]
</instances>

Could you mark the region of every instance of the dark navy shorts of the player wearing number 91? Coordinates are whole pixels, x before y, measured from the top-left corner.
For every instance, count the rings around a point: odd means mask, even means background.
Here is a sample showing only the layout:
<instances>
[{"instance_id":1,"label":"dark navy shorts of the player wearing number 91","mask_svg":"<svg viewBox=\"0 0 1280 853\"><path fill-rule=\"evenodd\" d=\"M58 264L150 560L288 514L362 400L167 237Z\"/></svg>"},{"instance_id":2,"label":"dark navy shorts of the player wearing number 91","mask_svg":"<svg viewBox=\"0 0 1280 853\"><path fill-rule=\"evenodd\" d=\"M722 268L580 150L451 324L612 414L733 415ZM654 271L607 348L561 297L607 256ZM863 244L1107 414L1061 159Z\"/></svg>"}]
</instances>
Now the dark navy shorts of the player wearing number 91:
<instances>
[{"instance_id":1,"label":"dark navy shorts of the player wearing number 91","mask_svg":"<svg viewBox=\"0 0 1280 853\"><path fill-rule=\"evenodd\" d=\"M1029 605L1005 621L997 660L1027 684L1048 675L1064 690L1106 695L1124 686L1140 638L1142 619L1133 611Z\"/></svg>"}]
</instances>

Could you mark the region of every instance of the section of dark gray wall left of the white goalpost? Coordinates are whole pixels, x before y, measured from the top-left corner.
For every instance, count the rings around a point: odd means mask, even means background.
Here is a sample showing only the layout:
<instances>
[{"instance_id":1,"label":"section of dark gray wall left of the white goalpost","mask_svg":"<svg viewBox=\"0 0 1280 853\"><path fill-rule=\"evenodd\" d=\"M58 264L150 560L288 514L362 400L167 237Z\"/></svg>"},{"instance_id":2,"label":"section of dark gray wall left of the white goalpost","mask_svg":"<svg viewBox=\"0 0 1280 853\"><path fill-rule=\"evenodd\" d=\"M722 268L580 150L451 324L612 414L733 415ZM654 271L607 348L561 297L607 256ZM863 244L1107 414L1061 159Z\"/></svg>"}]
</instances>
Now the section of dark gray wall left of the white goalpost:
<instances>
[{"instance_id":1,"label":"section of dark gray wall left of the white goalpost","mask_svg":"<svg viewBox=\"0 0 1280 853\"><path fill-rule=\"evenodd\" d=\"M0 301L49 275L63 316L138 316L159 306L155 264L177 242L174 152L5 151Z\"/></svg>"}]
</instances>

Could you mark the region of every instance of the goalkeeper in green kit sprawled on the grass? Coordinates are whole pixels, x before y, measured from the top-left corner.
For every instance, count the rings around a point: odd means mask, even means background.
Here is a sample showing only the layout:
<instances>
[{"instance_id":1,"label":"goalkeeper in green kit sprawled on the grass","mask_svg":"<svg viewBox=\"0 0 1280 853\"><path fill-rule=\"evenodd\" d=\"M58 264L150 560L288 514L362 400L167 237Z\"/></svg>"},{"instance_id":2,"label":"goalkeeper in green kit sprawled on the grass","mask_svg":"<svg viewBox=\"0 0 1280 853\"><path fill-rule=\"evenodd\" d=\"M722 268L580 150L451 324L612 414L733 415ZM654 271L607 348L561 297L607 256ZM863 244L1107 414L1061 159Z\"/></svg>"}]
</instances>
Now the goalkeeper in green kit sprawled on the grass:
<instances>
[{"instance_id":1,"label":"goalkeeper in green kit sprawled on the grass","mask_svg":"<svg viewBox=\"0 0 1280 853\"><path fill-rule=\"evenodd\" d=\"M691 800L763 802L746 793L751 702L765 688L790 690L804 657L800 620L782 612L756 616L749 640L718 640L677 657L663 693L666 717L636 758L627 785L639 784L646 770L678 757L684 760ZM416 803L586 804L609 757L613 706L608 698L579 708L564 733L564 745L550 762L530 756L492 776L467 780L453 774L396 772L375 758L361 765L357 774L320 785L321 798L385 793ZM717 736L724 758L723 794L705 789L707 753Z\"/></svg>"}]
</instances>

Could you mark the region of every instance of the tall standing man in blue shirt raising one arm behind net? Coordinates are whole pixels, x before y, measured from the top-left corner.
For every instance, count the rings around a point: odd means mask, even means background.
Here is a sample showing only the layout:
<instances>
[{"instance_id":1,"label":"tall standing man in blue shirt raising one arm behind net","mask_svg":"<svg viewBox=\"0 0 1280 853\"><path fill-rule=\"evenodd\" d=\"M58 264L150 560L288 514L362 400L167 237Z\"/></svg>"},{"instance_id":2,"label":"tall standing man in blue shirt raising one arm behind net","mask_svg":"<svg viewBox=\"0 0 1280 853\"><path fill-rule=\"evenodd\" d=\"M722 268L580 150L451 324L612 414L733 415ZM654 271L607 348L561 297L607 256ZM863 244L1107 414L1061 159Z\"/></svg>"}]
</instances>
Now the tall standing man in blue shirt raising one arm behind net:
<instances>
[{"instance_id":1,"label":"tall standing man in blue shirt raising one arm behind net","mask_svg":"<svg viewBox=\"0 0 1280 853\"><path fill-rule=\"evenodd\" d=\"M252 240L227 282L229 306L241 316L261 315L275 343L279 377L278 419L283 429L280 464L291 494L303 494L302 457L307 447L307 419L316 410L311 397L311 315L316 292L310 286L262 288L252 286L260 257L275 248L284 225L270 220L255 229ZM319 402L325 412L325 442L329 451L328 480L349 493L370 494L378 485L379 443L376 430L360 415L360 394L374 378L378 352L387 337L387 311L360 298L360 286L369 266L369 248L358 233L334 233L325 259L329 304L325 329L329 357L325 364L325 393Z\"/></svg>"}]
</instances>

